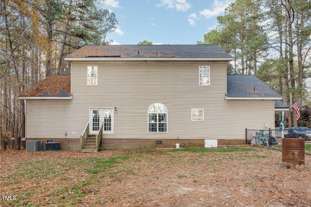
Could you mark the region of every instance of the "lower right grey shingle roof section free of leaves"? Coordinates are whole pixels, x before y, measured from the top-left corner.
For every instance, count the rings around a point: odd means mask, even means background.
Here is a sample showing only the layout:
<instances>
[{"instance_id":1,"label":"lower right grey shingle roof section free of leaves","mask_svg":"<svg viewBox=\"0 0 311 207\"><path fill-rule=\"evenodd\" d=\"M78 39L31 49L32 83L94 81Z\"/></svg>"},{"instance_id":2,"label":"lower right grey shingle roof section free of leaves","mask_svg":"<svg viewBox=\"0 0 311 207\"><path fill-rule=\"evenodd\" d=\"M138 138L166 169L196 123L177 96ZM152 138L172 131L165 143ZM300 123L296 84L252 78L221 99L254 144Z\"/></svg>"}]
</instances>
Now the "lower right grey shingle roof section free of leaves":
<instances>
[{"instance_id":1,"label":"lower right grey shingle roof section free of leaves","mask_svg":"<svg viewBox=\"0 0 311 207\"><path fill-rule=\"evenodd\" d=\"M282 100L254 75L227 75L226 100Z\"/></svg>"}]
</instances>

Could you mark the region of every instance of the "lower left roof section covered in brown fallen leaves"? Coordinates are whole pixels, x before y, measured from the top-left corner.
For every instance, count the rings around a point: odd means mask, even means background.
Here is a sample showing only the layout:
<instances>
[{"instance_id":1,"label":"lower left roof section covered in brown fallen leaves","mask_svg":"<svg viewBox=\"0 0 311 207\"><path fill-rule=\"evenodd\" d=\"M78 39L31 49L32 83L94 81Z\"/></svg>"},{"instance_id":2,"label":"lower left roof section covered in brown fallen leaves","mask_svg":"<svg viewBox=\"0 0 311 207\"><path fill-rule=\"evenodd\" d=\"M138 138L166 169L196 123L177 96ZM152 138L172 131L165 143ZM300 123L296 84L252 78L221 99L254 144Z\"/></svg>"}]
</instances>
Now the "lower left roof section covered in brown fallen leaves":
<instances>
[{"instance_id":1,"label":"lower left roof section covered in brown fallen leaves","mask_svg":"<svg viewBox=\"0 0 311 207\"><path fill-rule=\"evenodd\" d=\"M19 94L18 99L72 99L70 75L51 75Z\"/></svg>"}]
</instances>

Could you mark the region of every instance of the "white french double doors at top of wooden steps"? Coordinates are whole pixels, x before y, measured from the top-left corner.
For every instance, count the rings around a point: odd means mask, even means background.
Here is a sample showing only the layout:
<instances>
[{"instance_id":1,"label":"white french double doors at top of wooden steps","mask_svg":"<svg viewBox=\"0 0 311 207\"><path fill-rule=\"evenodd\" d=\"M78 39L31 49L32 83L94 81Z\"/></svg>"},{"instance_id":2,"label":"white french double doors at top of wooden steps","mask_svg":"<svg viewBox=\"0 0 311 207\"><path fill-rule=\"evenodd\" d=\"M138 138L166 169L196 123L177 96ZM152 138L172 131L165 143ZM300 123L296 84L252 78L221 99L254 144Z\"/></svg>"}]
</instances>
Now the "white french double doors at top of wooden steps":
<instances>
[{"instance_id":1,"label":"white french double doors at top of wooden steps","mask_svg":"<svg viewBox=\"0 0 311 207\"><path fill-rule=\"evenodd\" d=\"M113 134L113 108L91 108L89 133L96 134L103 123L103 134Z\"/></svg>"}]
</instances>

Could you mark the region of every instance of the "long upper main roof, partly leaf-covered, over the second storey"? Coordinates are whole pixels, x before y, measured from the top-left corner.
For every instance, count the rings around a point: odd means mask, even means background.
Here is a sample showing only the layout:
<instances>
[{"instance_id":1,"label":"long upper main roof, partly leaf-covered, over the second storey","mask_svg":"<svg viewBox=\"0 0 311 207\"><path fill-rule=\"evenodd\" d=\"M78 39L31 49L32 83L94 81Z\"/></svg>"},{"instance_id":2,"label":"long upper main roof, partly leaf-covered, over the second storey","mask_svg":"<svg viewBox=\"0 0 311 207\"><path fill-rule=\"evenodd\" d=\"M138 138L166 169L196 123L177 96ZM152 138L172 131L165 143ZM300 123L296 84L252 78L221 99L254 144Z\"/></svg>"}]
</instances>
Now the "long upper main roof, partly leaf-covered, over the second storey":
<instances>
[{"instance_id":1,"label":"long upper main roof, partly leaf-covered, over the second storey","mask_svg":"<svg viewBox=\"0 0 311 207\"><path fill-rule=\"evenodd\" d=\"M213 60L232 56L217 45L87 45L65 57L66 61Z\"/></svg>"}]
</instances>

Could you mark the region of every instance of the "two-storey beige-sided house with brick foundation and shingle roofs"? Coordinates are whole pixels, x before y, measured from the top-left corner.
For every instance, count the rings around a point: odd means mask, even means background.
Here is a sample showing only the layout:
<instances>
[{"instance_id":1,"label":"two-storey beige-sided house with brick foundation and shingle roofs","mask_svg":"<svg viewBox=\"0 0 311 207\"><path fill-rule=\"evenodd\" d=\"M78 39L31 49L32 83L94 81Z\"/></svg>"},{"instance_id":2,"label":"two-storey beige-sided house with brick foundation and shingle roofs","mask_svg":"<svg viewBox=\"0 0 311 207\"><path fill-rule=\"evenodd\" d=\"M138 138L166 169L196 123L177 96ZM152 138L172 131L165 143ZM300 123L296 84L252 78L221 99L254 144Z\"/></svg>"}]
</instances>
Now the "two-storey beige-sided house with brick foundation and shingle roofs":
<instances>
[{"instance_id":1,"label":"two-storey beige-sided house with brick foundation and shingle roofs","mask_svg":"<svg viewBox=\"0 0 311 207\"><path fill-rule=\"evenodd\" d=\"M65 60L70 76L19 96L27 140L84 151L204 147L274 128L281 96L253 75L227 75L232 57L216 45L89 45Z\"/></svg>"}]
</instances>

